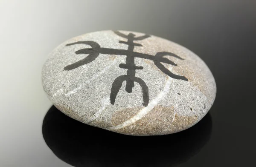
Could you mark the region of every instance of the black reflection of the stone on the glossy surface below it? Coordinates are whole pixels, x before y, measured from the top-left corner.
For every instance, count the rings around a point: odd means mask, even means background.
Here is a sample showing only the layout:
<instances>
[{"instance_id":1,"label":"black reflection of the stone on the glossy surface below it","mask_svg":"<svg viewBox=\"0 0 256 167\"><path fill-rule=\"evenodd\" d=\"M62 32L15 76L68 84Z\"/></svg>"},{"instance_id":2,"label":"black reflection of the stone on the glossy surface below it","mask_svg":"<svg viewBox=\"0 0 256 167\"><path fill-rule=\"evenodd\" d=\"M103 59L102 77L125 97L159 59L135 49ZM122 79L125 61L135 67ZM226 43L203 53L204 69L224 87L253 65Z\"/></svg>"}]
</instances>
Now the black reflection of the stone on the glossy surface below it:
<instances>
[{"instance_id":1,"label":"black reflection of the stone on the glossy surface below it","mask_svg":"<svg viewBox=\"0 0 256 167\"><path fill-rule=\"evenodd\" d=\"M83 124L52 106L44 117L43 137L52 152L75 167L170 167L187 161L212 132L208 113L182 132L130 136Z\"/></svg>"}]
</instances>

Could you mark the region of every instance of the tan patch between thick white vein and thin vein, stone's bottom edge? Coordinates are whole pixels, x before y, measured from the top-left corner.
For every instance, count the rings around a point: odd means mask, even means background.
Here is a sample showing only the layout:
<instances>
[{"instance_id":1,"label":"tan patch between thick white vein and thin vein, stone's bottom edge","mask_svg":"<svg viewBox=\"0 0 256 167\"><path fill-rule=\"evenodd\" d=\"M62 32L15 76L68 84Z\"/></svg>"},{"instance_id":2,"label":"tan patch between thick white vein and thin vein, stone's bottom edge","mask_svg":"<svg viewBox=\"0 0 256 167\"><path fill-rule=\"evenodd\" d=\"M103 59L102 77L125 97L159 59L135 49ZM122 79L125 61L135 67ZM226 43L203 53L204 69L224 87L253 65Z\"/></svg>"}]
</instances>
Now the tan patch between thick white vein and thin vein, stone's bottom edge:
<instances>
[{"instance_id":1,"label":"tan patch between thick white vein and thin vein, stone's bottom edge","mask_svg":"<svg viewBox=\"0 0 256 167\"><path fill-rule=\"evenodd\" d=\"M147 115L131 125L118 130L118 133L127 135L162 135L173 121L174 107L155 106Z\"/></svg>"}]
</instances>

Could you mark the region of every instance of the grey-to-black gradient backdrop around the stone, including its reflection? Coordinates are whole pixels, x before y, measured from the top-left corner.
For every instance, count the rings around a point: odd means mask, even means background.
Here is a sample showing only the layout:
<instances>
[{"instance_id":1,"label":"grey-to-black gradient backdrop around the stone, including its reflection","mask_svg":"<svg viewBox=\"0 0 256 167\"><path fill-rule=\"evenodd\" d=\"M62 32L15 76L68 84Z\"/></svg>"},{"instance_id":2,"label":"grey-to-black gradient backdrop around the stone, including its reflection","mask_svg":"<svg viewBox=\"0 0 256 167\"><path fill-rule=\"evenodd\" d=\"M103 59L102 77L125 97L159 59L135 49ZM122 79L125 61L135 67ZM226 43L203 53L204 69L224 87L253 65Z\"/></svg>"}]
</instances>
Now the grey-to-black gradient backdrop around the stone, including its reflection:
<instances>
[{"instance_id":1,"label":"grey-to-black gradient backdrop around the stone, including its reflection","mask_svg":"<svg viewBox=\"0 0 256 167\"><path fill-rule=\"evenodd\" d=\"M0 0L0 20L1 167L255 166L256 1ZM135 137L51 107L41 86L47 54L105 29L164 37L202 58L217 84L205 118L176 134Z\"/></svg>"}]
</instances>

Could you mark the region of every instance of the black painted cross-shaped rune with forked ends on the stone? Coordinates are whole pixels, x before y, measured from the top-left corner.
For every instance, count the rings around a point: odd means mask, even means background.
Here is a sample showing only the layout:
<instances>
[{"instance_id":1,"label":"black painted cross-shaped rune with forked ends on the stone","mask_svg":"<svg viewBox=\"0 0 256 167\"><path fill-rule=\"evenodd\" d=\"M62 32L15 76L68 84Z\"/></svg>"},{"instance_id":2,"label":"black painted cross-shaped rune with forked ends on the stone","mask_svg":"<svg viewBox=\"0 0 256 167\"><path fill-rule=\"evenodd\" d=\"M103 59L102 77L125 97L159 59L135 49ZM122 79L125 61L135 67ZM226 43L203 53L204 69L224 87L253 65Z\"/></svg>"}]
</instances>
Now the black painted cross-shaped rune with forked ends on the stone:
<instances>
[{"instance_id":1,"label":"black painted cross-shaped rune with forked ends on the stone","mask_svg":"<svg viewBox=\"0 0 256 167\"><path fill-rule=\"evenodd\" d=\"M126 81L126 87L125 90L128 93L132 92L132 88L134 87L134 82L137 82L140 84L141 88L142 88L142 93L143 93L143 106L148 106L148 86L146 85L146 83L141 79L141 78L137 78L135 77L135 70L136 69L143 69L142 66L136 66L134 64L134 58L145 58L145 59L149 59L149 60L153 60L154 64L165 74L169 75L169 77L172 77L174 79L180 79L180 80L184 80L184 81L188 81L187 78L185 78L184 76L180 76L180 75L175 75L172 72L170 72L168 69L166 69L165 66L163 66L163 64L161 63L167 63L167 64L171 64L173 66L177 66L177 64L175 64L174 62L172 62L171 60L164 58L163 56L173 56L175 58L178 58L180 60L183 60L182 58L180 58L179 56L171 53L171 52L157 52L156 55L148 55L148 54L144 54L144 53L138 53L138 52L134 52L134 46L142 46L139 43L134 43L134 40L144 40L145 38L150 37L150 35L144 35L144 36L140 36L140 37L135 37L135 35L133 33L129 33L128 35L122 34L121 32L118 31L114 31L114 33L120 37L126 38L127 41L122 41L119 40L119 43L123 43L128 45L128 50L123 50L123 49L110 49L110 48L101 48L99 46L98 43L93 42L93 41L79 41L79 42L75 42L75 43L69 43L66 46L70 46L70 45L76 45L76 44L85 44L85 45L89 45L91 46L91 48L86 48L86 49L80 49L78 51L76 51L76 55L79 54L89 54L86 58L79 60L76 63L70 64L68 66L64 67L64 70L72 70L75 69L79 66L83 66L84 64L90 63L93 60L95 60L99 54L107 54L107 55L125 55L126 56L126 63L123 64L119 64L119 67L122 69L127 69L127 75L121 75L119 77L117 77L113 83L112 83L112 88L111 88L111 94L110 94L110 101L111 104L113 105L116 101L116 95L119 92L121 86L122 86L122 82Z\"/></svg>"}]
</instances>

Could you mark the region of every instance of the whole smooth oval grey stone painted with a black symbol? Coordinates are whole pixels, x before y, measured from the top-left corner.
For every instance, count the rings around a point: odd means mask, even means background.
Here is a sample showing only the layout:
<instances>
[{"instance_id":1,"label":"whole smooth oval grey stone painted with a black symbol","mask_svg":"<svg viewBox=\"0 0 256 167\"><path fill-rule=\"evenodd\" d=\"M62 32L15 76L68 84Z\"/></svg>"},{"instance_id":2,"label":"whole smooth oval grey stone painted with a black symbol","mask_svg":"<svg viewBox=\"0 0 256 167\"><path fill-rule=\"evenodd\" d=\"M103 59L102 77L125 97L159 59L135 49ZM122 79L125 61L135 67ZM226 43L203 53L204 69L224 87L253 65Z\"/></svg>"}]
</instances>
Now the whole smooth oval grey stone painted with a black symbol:
<instances>
[{"instance_id":1,"label":"whole smooth oval grey stone painted with a black symbol","mask_svg":"<svg viewBox=\"0 0 256 167\"><path fill-rule=\"evenodd\" d=\"M92 32L54 49L42 69L52 104L85 124L125 135L166 135L195 125L216 83L195 53L128 31Z\"/></svg>"}]
</instances>

